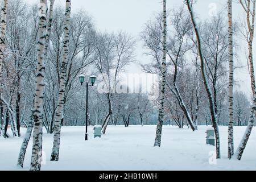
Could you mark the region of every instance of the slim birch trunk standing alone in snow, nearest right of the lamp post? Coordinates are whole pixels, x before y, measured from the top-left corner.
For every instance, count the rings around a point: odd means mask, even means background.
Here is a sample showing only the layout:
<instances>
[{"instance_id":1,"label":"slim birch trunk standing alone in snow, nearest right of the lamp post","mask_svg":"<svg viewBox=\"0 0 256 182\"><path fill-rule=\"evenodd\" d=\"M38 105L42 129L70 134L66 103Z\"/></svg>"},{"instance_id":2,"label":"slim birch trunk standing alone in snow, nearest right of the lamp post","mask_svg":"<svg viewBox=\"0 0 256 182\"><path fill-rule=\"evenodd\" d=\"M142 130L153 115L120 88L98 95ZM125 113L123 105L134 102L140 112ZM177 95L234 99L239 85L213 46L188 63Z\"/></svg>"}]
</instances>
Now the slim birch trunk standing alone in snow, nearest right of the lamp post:
<instances>
[{"instance_id":1,"label":"slim birch trunk standing alone in snow, nearest right of the lamp post","mask_svg":"<svg viewBox=\"0 0 256 182\"><path fill-rule=\"evenodd\" d=\"M156 135L154 147L161 146L163 119L164 119L164 93L166 90L166 36L167 36L167 18L166 18L166 0L163 0L163 60L162 60L162 82L160 90L160 106L158 114L158 125L156 126Z\"/></svg>"}]
</instances>

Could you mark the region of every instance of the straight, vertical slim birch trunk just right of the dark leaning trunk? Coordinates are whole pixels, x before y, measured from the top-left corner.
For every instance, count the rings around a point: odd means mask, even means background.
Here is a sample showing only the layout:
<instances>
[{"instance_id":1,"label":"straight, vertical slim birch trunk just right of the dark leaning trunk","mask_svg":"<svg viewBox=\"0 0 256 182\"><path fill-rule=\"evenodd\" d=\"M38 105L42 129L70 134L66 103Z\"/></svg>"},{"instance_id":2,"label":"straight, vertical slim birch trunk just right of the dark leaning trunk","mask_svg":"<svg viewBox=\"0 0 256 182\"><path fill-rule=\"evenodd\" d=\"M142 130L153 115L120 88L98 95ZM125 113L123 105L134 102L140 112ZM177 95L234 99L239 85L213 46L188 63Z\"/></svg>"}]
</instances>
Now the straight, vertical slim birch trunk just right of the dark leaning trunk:
<instances>
[{"instance_id":1,"label":"straight, vertical slim birch trunk just right of the dark leaning trunk","mask_svg":"<svg viewBox=\"0 0 256 182\"><path fill-rule=\"evenodd\" d=\"M232 22L232 0L228 0L229 19L229 129L228 129L228 158L234 155L234 111L233 111L233 85L234 85L234 61L233 61L233 22Z\"/></svg>"}]
</instances>

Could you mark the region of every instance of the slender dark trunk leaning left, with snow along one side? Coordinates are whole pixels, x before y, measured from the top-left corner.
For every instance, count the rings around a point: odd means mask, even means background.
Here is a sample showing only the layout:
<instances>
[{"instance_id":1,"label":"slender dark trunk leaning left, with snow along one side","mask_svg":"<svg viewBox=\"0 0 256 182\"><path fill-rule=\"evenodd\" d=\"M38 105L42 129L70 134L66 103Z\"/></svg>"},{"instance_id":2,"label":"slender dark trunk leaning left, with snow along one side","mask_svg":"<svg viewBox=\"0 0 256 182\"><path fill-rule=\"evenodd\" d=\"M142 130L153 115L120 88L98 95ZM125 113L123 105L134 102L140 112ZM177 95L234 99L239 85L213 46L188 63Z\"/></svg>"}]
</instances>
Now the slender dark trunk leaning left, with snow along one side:
<instances>
[{"instance_id":1,"label":"slender dark trunk leaning left, with snow along one side","mask_svg":"<svg viewBox=\"0 0 256 182\"><path fill-rule=\"evenodd\" d=\"M195 33L196 33L197 47L198 47L200 61L201 61L201 73L202 73L202 77L203 77L203 80L204 80L205 90L207 92L207 96L208 96L208 100L209 100L210 115L212 117L212 124L213 124L214 132L215 132L215 139L216 139L216 158L220 159L221 158L221 154L220 154L220 135L219 135L219 130L218 130L216 112L214 110L213 94L212 94L212 90L210 90L209 82L208 82L208 78L207 78L207 73L205 71L205 59L204 59L204 55L203 55L203 50L201 48L201 36L199 34L198 26L197 26L196 21L195 21L191 1L187 0L186 2L187 2L189 14L191 15L193 28L194 28Z\"/></svg>"}]
</instances>

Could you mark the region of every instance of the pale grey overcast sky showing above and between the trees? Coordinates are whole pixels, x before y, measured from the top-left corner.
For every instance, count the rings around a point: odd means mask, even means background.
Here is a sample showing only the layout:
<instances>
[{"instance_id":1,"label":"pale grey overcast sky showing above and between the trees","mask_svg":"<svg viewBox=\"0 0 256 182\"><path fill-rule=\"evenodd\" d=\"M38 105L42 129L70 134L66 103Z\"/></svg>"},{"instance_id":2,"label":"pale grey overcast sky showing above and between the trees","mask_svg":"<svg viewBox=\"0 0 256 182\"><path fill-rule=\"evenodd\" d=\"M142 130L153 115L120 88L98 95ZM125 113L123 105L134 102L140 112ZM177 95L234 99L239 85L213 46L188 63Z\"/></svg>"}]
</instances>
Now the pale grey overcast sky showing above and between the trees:
<instances>
[{"instance_id":1,"label":"pale grey overcast sky showing above and between the trees","mask_svg":"<svg viewBox=\"0 0 256 182\"><path fill-rule=\"evenodd\" d=\"M29 3L36 3L38 0L26 0ZM64 7L64 0L55 0L56 5ZM183 0L167 0L167 8L173 9L183 4ZM197 0L195 13L201 19L210 18L214 10L223 9L226 6L224 0ZM72 11L78 9L86 10L94 19L98 30L101 31L119 31L123 30L139 39L143 25L152 18L152 16L162 10L161 0L72 0ZM245 16L241 5L234 3L234 20L239 20ZM242 40L241 40L242 41ZM255 41L254 41L255 45ZM239 63L247 65L245 57L246 44L240 42L240 60ZM256 46L256 45L255 45ZM254 52L255 52L254 46ZM143 56L141 43L137 46L137 60L146 63L150 58ZM129 72L141 72L139 65L132 65ZM251 96L250 77L247 68L237 69L236 71L236 89L240 89Z\"/></svg>"}]
</instances>

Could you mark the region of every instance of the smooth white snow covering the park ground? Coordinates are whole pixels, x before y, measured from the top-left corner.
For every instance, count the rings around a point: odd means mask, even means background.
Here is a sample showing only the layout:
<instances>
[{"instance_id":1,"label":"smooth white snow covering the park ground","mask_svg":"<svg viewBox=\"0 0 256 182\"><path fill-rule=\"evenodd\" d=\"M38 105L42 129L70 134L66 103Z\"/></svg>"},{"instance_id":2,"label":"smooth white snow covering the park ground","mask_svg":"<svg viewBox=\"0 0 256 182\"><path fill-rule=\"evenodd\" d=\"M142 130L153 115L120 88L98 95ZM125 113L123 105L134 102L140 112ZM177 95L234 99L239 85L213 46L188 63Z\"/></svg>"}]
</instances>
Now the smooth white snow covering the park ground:
<instances>
[{"instance_id":1,"label":"smooth white snow covering the park ground","mask_svg":"<svg viewBox=\"0 0 256 182\"><path fill-rule=\"evenodd\" d=\"M152 147L155 126L109 126L101 139L84 141L85 127L63 127L61 131L60 161L50 162L53 137L44 134L43 150L46 161L42 170L256 170L256 130L253 130L241 161L227 159L227 130L220 127L222 159L209 164L213 146L205 144L205 130L177 129L164 126L162 146ZM245 127L234 130L235 147ZM22 130L24 135L26 130ZM19 170L15 164L22 138L0 138L0 170ZM213 153L213 152L212 152ZM30 166L31 143L28 146L24 170Z\"/></svg>"}]
</instances>

